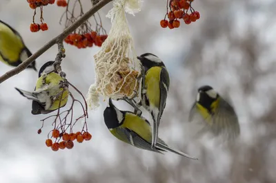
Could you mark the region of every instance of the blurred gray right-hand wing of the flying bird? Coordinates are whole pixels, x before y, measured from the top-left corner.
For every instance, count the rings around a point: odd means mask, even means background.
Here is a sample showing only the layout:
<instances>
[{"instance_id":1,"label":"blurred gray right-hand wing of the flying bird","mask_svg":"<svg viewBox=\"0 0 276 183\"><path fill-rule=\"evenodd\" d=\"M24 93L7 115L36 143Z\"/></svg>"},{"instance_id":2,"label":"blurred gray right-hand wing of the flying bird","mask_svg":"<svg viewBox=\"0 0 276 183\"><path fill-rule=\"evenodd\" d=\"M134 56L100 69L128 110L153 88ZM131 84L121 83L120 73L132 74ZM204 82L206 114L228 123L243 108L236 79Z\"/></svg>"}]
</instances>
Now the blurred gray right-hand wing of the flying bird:
<instances>
[{"instance_id":1,"label":"blurred gray right-hand wing of the flying bird","mask_svg":"<svg viewBox=\"0 0 276 183\"><path fill-rule=\"evenodd\" d=\"M219 106L213 116L212 130L216 134L222 133L229 139L239 136L239 120L235 109L223 98L219 98Z\"/></svg>"}]
</instances>

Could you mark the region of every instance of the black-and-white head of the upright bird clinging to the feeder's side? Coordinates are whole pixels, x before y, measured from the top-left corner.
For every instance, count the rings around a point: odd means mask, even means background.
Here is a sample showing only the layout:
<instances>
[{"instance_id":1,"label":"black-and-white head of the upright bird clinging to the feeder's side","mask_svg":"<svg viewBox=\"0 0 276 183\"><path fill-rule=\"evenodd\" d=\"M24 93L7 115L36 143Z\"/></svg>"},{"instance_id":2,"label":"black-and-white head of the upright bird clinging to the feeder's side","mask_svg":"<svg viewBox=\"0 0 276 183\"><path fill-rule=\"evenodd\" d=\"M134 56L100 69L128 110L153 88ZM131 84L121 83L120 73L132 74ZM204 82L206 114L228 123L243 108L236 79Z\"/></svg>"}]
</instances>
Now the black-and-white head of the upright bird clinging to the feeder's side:
<instances>
[{"instance_id":1,"label":"black-and-white head of the upright bird clinging to the feeder's side","mask_svg":"<svg viewBox=\"0 0 276 183\"><path fill-rule=\"evenodd\" d=\"M155 67L155 66L163 66L165 67L164 63L161 61L158 56L155 54L141 54L141 56L137 56L139 61L141 61L141 64L145 67L145 72L150 69L150 67Z\"/></svg>"}]
</instances>

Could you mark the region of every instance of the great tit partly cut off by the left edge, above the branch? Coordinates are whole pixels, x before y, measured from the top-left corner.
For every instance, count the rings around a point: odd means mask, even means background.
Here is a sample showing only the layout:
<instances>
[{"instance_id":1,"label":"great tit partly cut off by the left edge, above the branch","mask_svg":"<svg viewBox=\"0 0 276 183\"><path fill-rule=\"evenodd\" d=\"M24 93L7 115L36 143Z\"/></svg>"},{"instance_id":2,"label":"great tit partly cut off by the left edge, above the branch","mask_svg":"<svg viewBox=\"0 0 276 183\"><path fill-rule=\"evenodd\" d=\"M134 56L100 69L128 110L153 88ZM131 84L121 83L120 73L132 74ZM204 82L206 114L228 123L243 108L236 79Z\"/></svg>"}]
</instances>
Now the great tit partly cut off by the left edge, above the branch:
<instances>
[{"instance_id":1,"label":"great tit partly cut off by the left edge, above the branch","mask_svg":"<svg viewBox=\"0 0 276 183\"><path fill-rule=\"evenodd\" d=\"M0 20L0 61L16 67L31 55L19 32ZM28 68L37 71L35 61Z\"/></svg>"}]
</instances>

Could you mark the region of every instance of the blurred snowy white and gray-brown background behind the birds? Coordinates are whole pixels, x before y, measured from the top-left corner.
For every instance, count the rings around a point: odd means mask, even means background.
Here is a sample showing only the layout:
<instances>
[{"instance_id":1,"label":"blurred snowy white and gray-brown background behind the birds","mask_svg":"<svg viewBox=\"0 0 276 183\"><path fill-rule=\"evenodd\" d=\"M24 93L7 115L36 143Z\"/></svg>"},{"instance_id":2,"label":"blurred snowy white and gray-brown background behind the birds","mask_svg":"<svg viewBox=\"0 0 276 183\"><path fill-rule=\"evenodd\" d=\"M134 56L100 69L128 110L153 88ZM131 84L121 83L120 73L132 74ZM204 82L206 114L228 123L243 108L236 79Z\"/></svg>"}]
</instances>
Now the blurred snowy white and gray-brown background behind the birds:
<instances>
[{"instance_id":1,"label":"blurred snowy white and gray-brown background behind the birds","mask_svg":"<svg viewBox=\"0 0 276 183\"><path fill-rule=\"evenodd\" d=\"M88 10L90 1L82 2ZM105 15L111 7L109 3L100 11L106 30L110 30L110 20ZM43 117L32 116L31 101L14 89L34 88L37 73L28 69L0 85L0 182L276 182L276 1L195 0L193 8L201 19L190 25L181 23L175 30L160 28L165 0L146 1L141 12L127 18L137 54L156 54L170 74L159 136L198 161L143 151L115 139L103 122L104 103L89 113L92 140L76 143L71 150L52 151L45 145L50 122L38 135ZM46 7L49 30L32 33L33 11L28 3L0 0L1 20L20 32L32 52L62 32L63 10ZM66 44L63 71L83 94L94 82L93 55L98 50ZM37 68L56 53L55 46L40 56ZM11 69L0 64L0 74ZM206 84L237 111L241 136L234 143L218 142L208 134L195 138L197 129L187 122L196 89ZM119 107L129 108L124 103Z\"/></svg>"}]
</instances>

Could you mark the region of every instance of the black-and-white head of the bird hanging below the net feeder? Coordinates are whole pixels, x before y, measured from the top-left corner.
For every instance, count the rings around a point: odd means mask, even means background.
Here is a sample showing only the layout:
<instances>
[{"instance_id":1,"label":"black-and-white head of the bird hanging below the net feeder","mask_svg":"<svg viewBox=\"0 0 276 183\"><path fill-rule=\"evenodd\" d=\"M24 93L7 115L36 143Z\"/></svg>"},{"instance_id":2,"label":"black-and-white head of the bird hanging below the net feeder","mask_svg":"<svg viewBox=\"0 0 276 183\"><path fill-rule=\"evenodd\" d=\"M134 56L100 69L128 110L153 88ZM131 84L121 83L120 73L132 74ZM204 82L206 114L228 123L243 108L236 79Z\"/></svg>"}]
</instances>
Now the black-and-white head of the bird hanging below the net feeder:
<instances>
[{"instance_id":1,"label":"black-and-white head of the bird hanging below the net feeder","mask_svg":"<svg viewBox=\"0 0 276 183\"><path fill-rule=\"evenodd\" d=\"M119 127L124 121L124 113L117 109L112 103L112 99L109 98L109 107L103 111L104 122L108 129L115 129Z\"/></svg>"}]
</instances>

